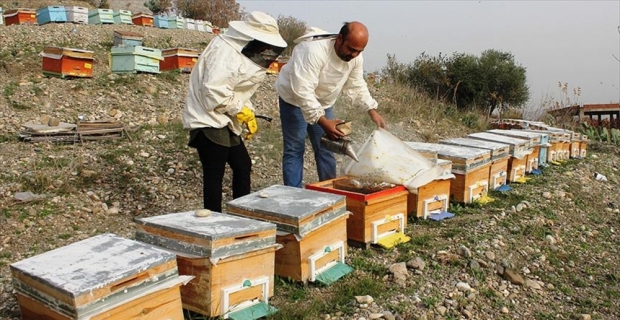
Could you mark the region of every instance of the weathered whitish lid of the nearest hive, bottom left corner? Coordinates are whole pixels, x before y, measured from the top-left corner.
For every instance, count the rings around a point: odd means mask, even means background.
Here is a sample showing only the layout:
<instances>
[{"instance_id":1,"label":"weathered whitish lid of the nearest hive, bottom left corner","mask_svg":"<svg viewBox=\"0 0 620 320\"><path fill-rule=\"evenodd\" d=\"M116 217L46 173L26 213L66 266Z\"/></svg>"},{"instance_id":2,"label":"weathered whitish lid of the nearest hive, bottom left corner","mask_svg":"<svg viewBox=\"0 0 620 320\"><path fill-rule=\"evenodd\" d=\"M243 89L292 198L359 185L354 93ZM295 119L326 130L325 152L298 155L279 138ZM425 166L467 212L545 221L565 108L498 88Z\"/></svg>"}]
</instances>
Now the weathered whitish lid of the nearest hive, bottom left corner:
<instances>
[{"instance_id":1,"label":"weathered whitish lid of the nearest hive, bottom left corner","mask_svg":"<svg viewBox=\"0 0 620 320\"><path fill-rule=\"evenodd\" d=\"M80 318L178 278L174 254L109 233L10 267L18 292Z\"/></svg>"}]
</instances>

